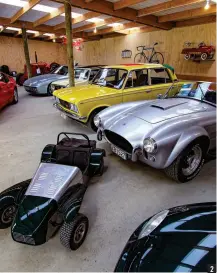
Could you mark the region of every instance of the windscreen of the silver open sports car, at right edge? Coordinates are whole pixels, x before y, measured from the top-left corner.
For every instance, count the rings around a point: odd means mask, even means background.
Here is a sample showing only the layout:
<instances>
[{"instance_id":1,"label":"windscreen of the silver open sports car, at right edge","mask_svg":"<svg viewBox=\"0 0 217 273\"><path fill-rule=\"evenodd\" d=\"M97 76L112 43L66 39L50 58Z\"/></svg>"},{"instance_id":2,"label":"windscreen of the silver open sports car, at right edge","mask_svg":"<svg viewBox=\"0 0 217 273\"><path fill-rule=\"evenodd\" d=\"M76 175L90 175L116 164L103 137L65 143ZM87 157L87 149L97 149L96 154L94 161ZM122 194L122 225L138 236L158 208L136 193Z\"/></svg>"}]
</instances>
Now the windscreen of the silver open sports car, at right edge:
<instances>
[{"instance_id":1,"label":"windscreen of the silver open sports car, at right edge","mask_svg":"<svg viewBox=\"0 0 217 273\"><path fill-rule=\"evenodd\" d=\"M170 90L168 97L192 98L216 104L216 83L196 82L183 84L178 93Z\"/></svg>"}]
</instances>

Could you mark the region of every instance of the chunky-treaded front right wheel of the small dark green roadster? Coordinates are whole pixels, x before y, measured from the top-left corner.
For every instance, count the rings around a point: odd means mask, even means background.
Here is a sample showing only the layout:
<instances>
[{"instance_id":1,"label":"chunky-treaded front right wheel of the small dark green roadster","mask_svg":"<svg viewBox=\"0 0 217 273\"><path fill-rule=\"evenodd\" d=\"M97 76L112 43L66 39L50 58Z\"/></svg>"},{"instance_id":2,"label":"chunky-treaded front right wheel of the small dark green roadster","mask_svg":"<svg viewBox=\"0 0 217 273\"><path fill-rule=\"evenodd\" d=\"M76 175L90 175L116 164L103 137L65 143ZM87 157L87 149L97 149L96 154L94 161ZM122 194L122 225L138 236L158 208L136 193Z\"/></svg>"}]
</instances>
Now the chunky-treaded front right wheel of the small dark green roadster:
<instances>
[{"instance_id":1,"label":"chunky-treaded front right wheel of the small dark green roadster","mask_svg":"<svg viewBox=\"0 0 217 273\"><path fill-rule=\"evenodd\" d=\"M89 227L89 221L83 214L78 214L73 222L62 225L60 242L71 250L77 250L84 242Z\"/></svg>"}]
</instances>

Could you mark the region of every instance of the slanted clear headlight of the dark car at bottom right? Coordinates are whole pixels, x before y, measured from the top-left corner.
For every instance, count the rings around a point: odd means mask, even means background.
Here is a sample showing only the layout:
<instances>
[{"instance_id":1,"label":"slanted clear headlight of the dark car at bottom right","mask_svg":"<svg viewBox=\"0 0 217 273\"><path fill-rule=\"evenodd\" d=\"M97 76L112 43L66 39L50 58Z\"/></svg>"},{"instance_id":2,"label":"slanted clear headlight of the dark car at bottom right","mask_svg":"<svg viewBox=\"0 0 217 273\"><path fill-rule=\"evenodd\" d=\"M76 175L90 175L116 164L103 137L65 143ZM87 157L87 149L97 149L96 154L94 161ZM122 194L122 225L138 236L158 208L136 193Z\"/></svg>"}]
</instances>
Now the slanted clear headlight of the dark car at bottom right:
<instances>
[{"instance_id":1,"label":"slanted clear headlight of the dark car at bottom right","mask_svg":"<svg viewBox=\"0 0 217 273\"><path fill-rule=\"evenodd\" d=\"M154 231L167 217L169 210L163 210L155 214L145 225L143 226L141 232L139 233L138 239L142 239L148 236L152 231Z\"/></svg>"}]
</instances>

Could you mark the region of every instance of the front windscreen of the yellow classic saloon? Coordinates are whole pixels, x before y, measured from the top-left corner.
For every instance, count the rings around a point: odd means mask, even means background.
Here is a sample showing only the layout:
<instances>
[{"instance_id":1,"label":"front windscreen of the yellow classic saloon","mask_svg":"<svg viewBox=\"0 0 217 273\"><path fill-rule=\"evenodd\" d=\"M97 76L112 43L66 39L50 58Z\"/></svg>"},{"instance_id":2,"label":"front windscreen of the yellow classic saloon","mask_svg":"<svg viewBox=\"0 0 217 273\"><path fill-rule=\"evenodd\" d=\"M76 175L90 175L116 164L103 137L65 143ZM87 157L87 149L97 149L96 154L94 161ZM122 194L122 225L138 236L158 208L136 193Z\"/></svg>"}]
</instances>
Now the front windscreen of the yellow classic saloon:
<instances>
[{"instance_id":1,"label":"front windscreen of the yellow classic saloon","mask_svg":"<svg viewBox=\"0 0 217 273\"><path fill-rule=\"evenodd\" d=\"M101 69L92 84L121 89L127 77L127 70L119 68Z\"/></svg>"}]
</instances>

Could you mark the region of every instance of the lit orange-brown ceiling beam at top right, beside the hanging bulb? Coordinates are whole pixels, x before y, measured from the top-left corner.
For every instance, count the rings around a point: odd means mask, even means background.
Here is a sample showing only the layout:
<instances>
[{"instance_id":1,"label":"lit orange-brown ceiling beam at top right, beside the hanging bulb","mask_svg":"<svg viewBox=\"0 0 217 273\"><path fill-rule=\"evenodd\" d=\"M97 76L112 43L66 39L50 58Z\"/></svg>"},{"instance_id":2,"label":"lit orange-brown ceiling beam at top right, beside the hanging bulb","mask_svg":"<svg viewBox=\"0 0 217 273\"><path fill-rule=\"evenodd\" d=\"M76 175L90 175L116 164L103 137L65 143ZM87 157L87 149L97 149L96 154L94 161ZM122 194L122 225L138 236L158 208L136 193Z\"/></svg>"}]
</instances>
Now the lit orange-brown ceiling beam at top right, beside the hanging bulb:
<instances>
[{"instance_id":1,"label":"lit orange-brown ceiling beam at top right, beside the hanging bulb","mask_svg":"<svg viewBox=\"0 0 217 273\"><path fill-rule=\"evenodd\" d=\"M216 14L216 5L212 5L207 10L205 10L204 8L198 8L198 9L185 10L181 12L159 16L158 21L159 22L180 21L180 20L186 20L186 19L195 18L195 17L215 15L215 14Z\"/></svg>"}]
</instances>

